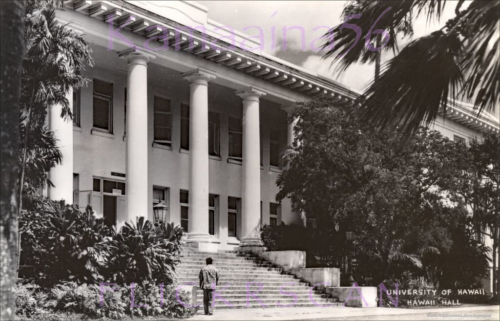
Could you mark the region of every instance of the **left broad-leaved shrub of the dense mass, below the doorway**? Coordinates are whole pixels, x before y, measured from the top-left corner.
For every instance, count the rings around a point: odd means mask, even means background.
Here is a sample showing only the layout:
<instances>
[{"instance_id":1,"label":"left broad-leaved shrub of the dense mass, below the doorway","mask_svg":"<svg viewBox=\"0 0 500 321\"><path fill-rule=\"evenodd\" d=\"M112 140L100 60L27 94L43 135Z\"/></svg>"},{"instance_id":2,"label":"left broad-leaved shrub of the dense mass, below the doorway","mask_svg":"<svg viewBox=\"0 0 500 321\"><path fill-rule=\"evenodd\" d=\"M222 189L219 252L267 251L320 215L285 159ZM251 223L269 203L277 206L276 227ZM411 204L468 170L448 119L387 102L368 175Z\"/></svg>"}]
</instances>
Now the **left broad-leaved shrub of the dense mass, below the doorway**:
<instances>
[{"instance_id":1,"label":"left broad-leaved shrub of the dense mass, below the doorway","mask_svg":"<svg viewBox=\"0 0 500 321\"><path fill-rule=\"evenodd\" d=\"M33 240L27 251L33 254L34 281L50 286L61 280L85 283L102 280L100 271L114 249L114 241L107 239L113 231L104 224L104 219L96 217L90 206L80 212L63 201L49 202L43 215L46 218L36 225L24 223L28 217L22 219L29 235L24 244Z\"/></svg>"}]
</instances>

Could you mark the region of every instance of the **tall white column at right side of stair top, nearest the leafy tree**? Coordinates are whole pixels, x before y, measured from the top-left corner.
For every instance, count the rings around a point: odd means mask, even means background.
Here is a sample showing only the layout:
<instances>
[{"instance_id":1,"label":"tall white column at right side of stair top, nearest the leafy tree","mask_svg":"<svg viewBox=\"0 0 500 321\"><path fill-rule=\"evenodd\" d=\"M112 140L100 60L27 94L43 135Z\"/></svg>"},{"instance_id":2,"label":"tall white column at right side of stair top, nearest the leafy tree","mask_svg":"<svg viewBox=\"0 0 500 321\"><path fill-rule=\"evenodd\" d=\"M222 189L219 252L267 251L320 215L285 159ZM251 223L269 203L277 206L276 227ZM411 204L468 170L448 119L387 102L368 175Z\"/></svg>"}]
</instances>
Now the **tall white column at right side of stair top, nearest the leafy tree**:
<instances>
[{"instance_id":1,"label":"tall white column at right side of stair top, nearest the leafy tree","mask_svg":"<svg viewBox=\"0 0 500 321\"><path fill-rule=\"evenodd\" d=\"M259 97L264 91L253 87L236 90L243 99L243 150L241 177L240 247L262 246L260 240L260 126Z\"/></svg>"}]
</instances>

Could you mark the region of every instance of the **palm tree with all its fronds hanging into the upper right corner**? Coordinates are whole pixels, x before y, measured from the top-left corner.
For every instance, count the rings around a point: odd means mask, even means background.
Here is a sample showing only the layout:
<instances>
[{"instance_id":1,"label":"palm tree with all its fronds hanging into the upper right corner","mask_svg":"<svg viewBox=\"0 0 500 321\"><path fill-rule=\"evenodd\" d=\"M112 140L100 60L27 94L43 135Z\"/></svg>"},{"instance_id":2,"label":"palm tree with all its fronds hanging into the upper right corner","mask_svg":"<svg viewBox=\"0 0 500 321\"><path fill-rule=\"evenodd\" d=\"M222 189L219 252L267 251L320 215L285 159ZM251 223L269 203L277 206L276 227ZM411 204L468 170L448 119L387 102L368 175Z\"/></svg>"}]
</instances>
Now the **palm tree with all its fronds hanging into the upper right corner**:
<instances>
[{"instance_id":1,"label":"palm tree with all its fronds hanging into the upper right corner","mask_svg":"<svg viewBox=\"0 0 500 321\"><path fill-rule=\"evenodd\" d=\"M396 34L411 35L413 18L423 12L427 20L439 18L444 1L348 2L342 16L349 20L324 35L323 48L329 49L323 58L336 54L332 63L342 73L356 61L375 61L380 50L395 55L358 98L360 119L380 129L399 126L409 136L433 121L448 99L473 101L477 114L494 109L500 92L500 1L474 0L462 9L463 2L443 28L398 52ZM382 48L371 43L373 33L383 35Z\"/></svg>"}]
</instances>

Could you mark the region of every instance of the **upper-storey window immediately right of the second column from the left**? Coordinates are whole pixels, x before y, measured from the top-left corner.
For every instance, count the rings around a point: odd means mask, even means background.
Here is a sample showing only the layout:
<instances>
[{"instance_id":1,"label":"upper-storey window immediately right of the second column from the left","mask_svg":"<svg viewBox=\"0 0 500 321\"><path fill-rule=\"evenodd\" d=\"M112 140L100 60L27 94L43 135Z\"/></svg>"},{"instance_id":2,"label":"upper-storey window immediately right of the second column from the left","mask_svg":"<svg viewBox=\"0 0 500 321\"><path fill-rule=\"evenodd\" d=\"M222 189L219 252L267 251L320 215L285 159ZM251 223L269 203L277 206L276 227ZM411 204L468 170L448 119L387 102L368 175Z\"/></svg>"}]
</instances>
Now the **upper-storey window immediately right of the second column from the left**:
<instances>
[{"instance_id":1,"label":"upper-storey window immediately right of the second column from the left","mask_svg":"<svg viewBox=\"0 0 500 321\"><path fill-rule=\"evenodd\" d=\"M172 112L170 100L154 96L154 142L166 146L172 143Z\"/></svg>"}]
</instances>

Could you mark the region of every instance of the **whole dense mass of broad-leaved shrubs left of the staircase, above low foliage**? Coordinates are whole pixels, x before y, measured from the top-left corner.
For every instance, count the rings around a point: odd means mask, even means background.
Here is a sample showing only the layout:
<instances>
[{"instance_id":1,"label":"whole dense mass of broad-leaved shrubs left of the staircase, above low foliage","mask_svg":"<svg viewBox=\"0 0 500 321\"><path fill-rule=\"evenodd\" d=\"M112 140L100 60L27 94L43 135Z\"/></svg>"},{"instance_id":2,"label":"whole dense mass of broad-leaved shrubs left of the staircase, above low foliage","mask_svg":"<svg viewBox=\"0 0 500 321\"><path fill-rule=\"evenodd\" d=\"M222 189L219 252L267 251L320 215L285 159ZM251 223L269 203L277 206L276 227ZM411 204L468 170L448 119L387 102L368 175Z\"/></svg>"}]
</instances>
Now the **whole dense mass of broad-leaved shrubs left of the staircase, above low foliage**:
<instances>
[{"instance_id":1,"label":"whole dense mass of broad-leaved shrubs left of the staircase, above low foliage","mask_svg":"<svg viewBox=\"0 0 500 321\"><path fill-rule=\"evenodd\" d=\"M23 275L27 279L44 287L64 281L172 282L182 249L179 225L155 226L139 217L116 232L90 206L80 212L64 201L39 203L42 208L20 217L22 262L32 266Z\"/></svg>"}]
</instances>

